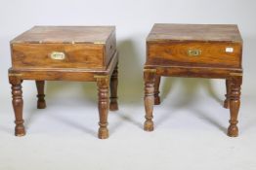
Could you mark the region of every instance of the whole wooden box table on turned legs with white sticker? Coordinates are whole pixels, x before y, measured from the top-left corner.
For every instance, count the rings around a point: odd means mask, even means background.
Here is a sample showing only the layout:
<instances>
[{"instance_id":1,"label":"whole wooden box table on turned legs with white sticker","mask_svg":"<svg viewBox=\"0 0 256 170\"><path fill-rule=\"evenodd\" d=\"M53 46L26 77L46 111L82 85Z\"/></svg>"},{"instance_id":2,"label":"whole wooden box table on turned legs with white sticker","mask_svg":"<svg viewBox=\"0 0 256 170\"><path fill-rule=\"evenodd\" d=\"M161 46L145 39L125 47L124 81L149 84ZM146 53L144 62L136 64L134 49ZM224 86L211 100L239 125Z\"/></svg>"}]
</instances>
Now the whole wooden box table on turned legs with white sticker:
<instances>
[{"instance_id":1,"label":"whole wooden box table on turned legs with white sticker","mask_svg":"<svg viewBox=\"0 0 256 170\"><path fill-rule=\"evenodd\" d=\"M147 39L145 130L153 130L153 104L160 104L161 76L225 79L225 108L230 108L228 135L238 135L242 83L242 39L236 25L154 24Z\"/></svg>"}]
</instances>

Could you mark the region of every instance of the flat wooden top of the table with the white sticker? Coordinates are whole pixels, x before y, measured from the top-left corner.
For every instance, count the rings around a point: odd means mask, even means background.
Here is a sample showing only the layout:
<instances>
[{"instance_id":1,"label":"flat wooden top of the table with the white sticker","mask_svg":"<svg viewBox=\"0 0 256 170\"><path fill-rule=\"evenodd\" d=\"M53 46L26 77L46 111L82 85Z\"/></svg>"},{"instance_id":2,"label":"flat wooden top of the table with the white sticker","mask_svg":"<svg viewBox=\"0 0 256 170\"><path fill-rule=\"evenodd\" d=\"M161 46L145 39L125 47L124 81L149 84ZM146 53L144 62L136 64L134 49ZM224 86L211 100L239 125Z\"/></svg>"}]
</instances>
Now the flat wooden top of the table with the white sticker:
<instances>
[{"instance_id":1,"label":"flat wooden top of the table with the white sticker","mask_svg":"<svg viewBox=\"0 0 256 170\"><path fill-rule=\"evenodd\" d=\"M155 23L148 42L200 41L238 42L242 39L235 24L171 24Z\"/></svg>"}]
</instances>

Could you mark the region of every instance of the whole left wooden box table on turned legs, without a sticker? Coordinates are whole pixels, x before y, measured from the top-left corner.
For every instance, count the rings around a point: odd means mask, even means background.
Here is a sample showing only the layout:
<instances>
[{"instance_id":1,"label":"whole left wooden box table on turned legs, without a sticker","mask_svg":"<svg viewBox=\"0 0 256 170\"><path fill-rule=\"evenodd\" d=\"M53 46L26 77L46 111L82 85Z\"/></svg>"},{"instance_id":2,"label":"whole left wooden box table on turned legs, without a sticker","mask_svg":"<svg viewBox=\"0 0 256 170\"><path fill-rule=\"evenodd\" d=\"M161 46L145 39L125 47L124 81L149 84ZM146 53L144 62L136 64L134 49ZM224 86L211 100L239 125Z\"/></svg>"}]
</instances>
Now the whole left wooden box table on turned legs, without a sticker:
<instances>
[{"instance_id":1,"label":"whole left wooden box table on turned legs, without a sticker","mask_svg":"<svg viewBox=\"0 0 256 170\"><path fill-rule=\"evenodd\" d=\"M118 55L114 26L35 26L11 41L11 52L9 80L17 136L25 134L21 83L23 80L34 80L38 91L38 109L46 107L45 81L97 82L99 138L108 137L108 108L112 111L118 109Z\"/></svg>"}]
</instances>

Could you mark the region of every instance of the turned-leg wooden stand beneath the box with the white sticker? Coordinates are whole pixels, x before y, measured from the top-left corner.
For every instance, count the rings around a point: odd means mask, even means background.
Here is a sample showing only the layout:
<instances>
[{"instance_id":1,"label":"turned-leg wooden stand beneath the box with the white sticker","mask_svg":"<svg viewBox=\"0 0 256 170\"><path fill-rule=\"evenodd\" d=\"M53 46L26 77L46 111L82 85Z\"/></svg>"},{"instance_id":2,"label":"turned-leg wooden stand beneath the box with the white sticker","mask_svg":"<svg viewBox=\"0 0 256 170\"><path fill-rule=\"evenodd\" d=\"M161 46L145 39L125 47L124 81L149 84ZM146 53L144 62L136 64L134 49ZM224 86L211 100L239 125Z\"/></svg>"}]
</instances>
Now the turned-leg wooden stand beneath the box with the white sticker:
<instances>
[{"instance_id":1,"label":"turned-leg wooden stand beneath the box with the white sticker","mask_svg":"<svg viewBox=\"0 0 256 170\"><path fill-rule=\"evenodd\" d=\"M144 129L153 130L153 104L160 104L159 80L161 76L167 77L191 77L191 78L212 78L225 79L227 85L225 108L230 108L231 119L228 128L228 135L236 137L238 135L237 116L240 106L240 86L242 84L242 69L222 69L210 67L161 67L145 66L145 110L146 121Z\"/></svg>"}]
</instances>

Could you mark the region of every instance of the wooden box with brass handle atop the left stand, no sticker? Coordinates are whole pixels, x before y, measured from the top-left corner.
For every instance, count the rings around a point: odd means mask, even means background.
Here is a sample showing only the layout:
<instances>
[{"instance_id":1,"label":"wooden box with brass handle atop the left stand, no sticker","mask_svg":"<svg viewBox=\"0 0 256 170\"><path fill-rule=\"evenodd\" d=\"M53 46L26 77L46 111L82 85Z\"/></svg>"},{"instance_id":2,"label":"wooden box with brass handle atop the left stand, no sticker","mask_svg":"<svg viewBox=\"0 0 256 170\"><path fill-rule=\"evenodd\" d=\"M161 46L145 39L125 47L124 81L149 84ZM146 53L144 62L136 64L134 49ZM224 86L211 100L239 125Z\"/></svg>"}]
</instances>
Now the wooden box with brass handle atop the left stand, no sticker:
<instances>
[{"instance_id":1,"label":"wooden box with brass handle atop the left stand, no sticker","mask_svg":"<svg viewBox=\"0 0 256 170\"><path fill-rule=\"evenodd\" d=\"M88 31L106 35L91 39ZM73 37L62 39L64 32L72 30ZM82 33L84 32L84 34ZM27 36L29 34L29 39ZM41 38L49 35L50 38ZM79 37L81 36L81 37ZM82 37L86 37L82 39ZM54 40L54 41L53 41ZM114 27L41 27L37 26L11 41L13 68L83 68L106 69L115 45Z\"/></svg>"}]
</instances>

